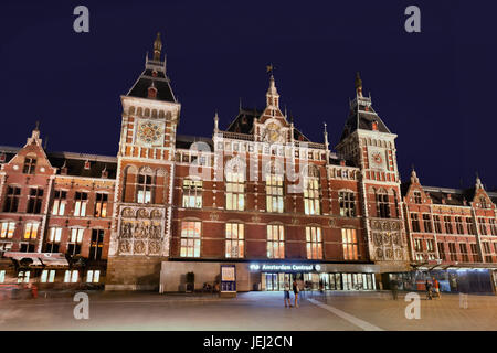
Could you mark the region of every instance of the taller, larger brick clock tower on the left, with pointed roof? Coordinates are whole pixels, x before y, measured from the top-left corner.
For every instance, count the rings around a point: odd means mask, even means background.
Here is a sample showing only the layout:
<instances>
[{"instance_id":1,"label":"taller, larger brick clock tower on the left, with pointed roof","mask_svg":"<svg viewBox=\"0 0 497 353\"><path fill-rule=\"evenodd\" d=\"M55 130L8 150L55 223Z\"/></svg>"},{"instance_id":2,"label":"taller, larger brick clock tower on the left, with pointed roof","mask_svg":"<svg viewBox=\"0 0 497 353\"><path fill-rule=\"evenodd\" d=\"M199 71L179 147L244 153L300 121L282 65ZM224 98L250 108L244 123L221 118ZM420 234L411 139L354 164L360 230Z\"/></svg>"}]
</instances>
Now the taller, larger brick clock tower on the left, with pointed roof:
<instances>
[{"instance_id":1,"label":"taller, larger brick clock tower on the left, with pointed roof","mask_svg":"<svg viewBox=\"0 0 497 353\"><path fill-rule=\"evenodd\" d=\"M160 33L145 69L121 96L123 116L107 290L156 289L169 257L173 156L180 116Z\"/></svg>"}]
</instances>

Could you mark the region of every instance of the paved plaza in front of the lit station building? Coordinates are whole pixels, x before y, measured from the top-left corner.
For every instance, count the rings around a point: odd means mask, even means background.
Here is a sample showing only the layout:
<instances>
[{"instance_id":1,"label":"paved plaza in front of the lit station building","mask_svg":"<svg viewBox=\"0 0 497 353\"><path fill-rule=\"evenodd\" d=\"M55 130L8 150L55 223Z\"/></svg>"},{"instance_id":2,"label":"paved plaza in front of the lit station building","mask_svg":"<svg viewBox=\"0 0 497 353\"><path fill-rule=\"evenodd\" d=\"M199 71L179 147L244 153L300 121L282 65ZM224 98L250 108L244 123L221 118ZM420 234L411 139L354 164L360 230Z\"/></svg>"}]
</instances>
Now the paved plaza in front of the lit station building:
<instances>
[{"instance_id":1,"label":"paved plaza in front of the lit station building","mask_svg":"<svg viewBox=\"0 0 497 353\"><path fill-rule=\"evenodd\" d=\"M91 292L89 318L76 320L78 302L67 296L0 301L0 330L248 330L399 331L497 330L497 297L459 296L426 300L420 319L405 318L405 293L304 292L299 308L285 308L283 292L212 295Z\"/></svg>"}]
</instances>

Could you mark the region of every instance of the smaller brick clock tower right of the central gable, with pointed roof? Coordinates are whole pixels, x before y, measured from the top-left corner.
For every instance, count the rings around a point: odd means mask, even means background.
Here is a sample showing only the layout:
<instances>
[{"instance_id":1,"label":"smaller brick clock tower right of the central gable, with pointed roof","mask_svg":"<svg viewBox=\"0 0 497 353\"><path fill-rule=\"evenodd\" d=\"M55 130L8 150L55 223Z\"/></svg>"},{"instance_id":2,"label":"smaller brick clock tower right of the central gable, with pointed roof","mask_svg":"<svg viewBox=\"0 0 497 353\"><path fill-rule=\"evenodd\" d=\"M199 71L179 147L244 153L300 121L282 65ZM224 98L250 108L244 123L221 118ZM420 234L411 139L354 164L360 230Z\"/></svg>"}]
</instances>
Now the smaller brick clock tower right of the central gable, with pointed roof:
<instances>
[{"instance_id":1,"label":"smaller brick clock tower right of the central gable, with pointed roof","mask_svg":"<svg viewBox=\"0 0 497 353\"><path fill-rule=\"evenodd\" d=\"M369 255L382 272L406 270L409 261L395 138L373 109L371 96L363 96L358 73L356 98L350 103L337 151L361 170L360 196Z\"/></svg>"}]
</instances>

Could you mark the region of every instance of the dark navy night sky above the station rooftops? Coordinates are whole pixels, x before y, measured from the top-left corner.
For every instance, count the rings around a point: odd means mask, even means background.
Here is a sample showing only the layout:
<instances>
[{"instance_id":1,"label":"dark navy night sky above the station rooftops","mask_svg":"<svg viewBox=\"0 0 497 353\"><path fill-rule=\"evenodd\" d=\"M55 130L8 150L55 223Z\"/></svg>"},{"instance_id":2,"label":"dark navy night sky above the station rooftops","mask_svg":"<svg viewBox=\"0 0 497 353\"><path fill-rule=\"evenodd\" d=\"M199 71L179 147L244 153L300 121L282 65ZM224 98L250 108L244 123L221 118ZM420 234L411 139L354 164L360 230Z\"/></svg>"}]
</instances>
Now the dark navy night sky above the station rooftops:
<instances>
[{"instance_id":1,"label":"dark navy night sky above the station rooftops","mask_svg":"<svg viewBox=\"0 0 497 353\"><path fill-rule=\"evenodd\" d=\"M89 33L73 9L89 9ZM404 9L421 8L421 33ZM403 180L497 188L497 9L490 1L2 1L1 146L23 146L36 120L49 150L115 156L119 96L162 33L182 106L179 133L211 136L264 107L268 63L295 125L336 146L361 72L374 109L398 133Z\"/></svg>"}]
</instances>

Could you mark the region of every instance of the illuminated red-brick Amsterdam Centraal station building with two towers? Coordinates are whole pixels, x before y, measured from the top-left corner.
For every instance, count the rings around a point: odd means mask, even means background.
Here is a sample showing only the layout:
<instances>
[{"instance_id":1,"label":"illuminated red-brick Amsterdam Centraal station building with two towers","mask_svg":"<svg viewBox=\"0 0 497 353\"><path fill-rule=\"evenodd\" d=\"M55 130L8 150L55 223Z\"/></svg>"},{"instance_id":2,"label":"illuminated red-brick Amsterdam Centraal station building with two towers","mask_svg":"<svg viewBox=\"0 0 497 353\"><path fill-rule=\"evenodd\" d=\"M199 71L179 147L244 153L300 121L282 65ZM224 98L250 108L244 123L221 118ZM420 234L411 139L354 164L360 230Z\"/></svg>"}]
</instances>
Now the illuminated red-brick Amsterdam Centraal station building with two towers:
<instances>
[{"instance_id":1,"label":"illuminated red-brick Amsterdam Centraal station building with two towers","mask_svg":"<svg viewBox=\"0 0 497 353\"><path fill-rule=\"evenodd\" d=\"M423 289L495 292L497 194L402 183L396 135L356 78L331 150L282 111L273 76L263 109L240 107L209 138L177 135L181 105L161 54L129 92L117 157L47 151L36 127L0 148L0 286L106 290L214 285L234 265L236 290ZM182 121L191 124L191 121Z\"/></svg>"}]
</instances>

